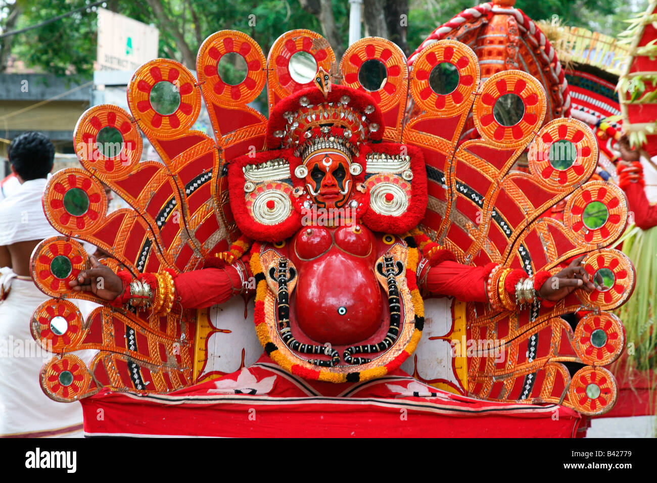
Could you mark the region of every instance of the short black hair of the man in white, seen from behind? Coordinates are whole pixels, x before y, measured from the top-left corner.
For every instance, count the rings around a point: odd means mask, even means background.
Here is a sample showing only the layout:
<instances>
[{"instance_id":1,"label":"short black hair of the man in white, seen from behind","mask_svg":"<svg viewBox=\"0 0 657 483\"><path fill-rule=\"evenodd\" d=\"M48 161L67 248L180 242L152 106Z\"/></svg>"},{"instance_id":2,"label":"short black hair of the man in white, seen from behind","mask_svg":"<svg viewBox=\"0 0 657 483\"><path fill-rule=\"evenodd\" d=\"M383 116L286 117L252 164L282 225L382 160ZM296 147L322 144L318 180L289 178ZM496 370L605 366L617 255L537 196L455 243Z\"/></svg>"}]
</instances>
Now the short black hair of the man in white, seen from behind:
<instances>
[{"instance_id":1,"label":"short black hair of the man in white, seen from behind","mask_svg":"<svg viewBox=\"0 0 657 483\"><path fill-rule=\"evenodd\" d=\"M53 170L55 146L41 133L29 131L14 137L7 154L23 181L45 178Z\"/></svg>"}]
</instances>

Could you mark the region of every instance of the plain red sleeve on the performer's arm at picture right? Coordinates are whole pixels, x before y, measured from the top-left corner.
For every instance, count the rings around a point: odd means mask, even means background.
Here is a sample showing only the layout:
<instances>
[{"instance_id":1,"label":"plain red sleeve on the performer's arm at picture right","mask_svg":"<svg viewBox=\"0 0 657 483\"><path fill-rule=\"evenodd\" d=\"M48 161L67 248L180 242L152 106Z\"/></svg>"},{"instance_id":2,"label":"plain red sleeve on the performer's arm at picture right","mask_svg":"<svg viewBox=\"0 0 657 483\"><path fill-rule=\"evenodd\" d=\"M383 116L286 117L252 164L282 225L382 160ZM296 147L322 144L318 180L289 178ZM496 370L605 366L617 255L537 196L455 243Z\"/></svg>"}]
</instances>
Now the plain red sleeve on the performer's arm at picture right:
<instances>
[{"instance_id":1,"label":"plain red sleeve on the performer's arm at picture right","mask_svg":"<svg viewBox=\"0 0 657 483\"><path fill-rule=\"evenodd\" d=\"M486 281L495 264L471 267L445 260L429 267L424 289L434 296L455 297L463 302L488 302Z\"/></svg>"}]
</instances>

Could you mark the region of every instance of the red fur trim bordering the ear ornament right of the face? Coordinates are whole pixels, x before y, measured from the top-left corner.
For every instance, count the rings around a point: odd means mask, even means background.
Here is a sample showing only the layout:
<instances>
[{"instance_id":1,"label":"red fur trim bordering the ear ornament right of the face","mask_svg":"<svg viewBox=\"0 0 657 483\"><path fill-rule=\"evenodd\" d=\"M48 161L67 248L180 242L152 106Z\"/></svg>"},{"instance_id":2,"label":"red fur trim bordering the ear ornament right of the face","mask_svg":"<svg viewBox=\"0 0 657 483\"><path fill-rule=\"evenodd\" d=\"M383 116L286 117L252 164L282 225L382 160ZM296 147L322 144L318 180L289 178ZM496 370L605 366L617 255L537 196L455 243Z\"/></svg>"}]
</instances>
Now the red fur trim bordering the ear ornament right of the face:
<instances>
[{"instance_id":1,"label":"red fur trim bordering the ear ornament right of the face","mask_svg":"<svg viewBox=\"0 0 657 483\"><path fill-rule=\"evenodd\" d=\"M363 216L363 223L367 225L372 231L382 233L392 233L394 235L401 235L415 227L426 212L427 193L426 193L426 166L424 165L424 156L422 151L409 145L402 145L399 143L378 143L369 144L363 147L366 152L361 152L361 156L365 157L367 152L385 152L386 154L400 154L401 148L405 147L409 156L411 156L411 171L413 172L413 179L410 184L412 187L411 200L405 213L400 216L384 216L377 214L370 207L365 216ZM367 166L363 166L366 170Z\"/></svg>"}]
</instances>

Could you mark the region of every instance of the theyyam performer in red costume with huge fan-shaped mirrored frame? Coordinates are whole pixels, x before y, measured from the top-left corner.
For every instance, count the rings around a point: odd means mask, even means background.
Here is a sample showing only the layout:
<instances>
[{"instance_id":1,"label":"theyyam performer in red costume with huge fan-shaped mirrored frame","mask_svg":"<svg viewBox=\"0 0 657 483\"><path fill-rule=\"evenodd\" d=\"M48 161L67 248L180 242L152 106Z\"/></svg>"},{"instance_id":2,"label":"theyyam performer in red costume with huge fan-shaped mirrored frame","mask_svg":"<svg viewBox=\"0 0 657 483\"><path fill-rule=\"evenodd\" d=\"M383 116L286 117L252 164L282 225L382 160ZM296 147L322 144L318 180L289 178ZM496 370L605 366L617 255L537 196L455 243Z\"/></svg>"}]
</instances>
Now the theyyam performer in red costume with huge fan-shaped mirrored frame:
<instances>
[{"instance_id":1,"label":"theyyam performer in red costume with huge fan-shaped mirrored frame","mask_svg":"<svg viewBox=\"0 0 657 483\"><path fill-rule=\"evenodd\" d=\"M238 85L217 71L226 53L247 62ZM300 53L315 62L313 78L295 70ZM246 404L244 394L262 404L258 411L296 398L300 415L317 410L308 396L327 405L383 398L383 413L386 404L425 398L409 410L426 417L501 407L537 417L545 404L566 413L610 409L616 387L602 366L618 357L624 333L606 310L631 294L634 272L604 247L624 228L627 206L620 189L586 183L597 161L587 126L560 118L541 127L546 98L535 78L508 70L480 85L472 50L444 39L410 71L399 48L380 38L357 41L338 66L327 41L307 30L282 35L268 60L248 35L217 32L196 67L198 79L172 60L139 68L128 90L132 115L109 105L85 112L76 128L89 146L78 152L84 170L49 181L44 209L63 236L32 256L39 287L53 296L35 311L32 333L42 343L52 338L49 313L72 331L68 342L54 342L58 356L41 373L51 398L91 410L112 398L137 403L136 394L170 415L192 396L218 405L203 428L169 418L168 428L139 427L181 434L238 430L212 425L230 413L228 401ZM268 120L246 105L265 80ZM201 95L216 139L191 130ZM409 103L418 108L413 118L405 118ZM459 142L471 112L481 138ZM137 129L164 164L139 162ZM110 157L102 139L112 130L123 141ZM551 145L566 142L578 158L564 166L551 160ZM528 145L529 172L511 170ZM132 209L106 215L99 180ZM564 223L541 218L568 195ZM604 219L591 216L600 204ZM71 235L112 258L73 260ZM612 287L595 282L603 267L614 271ZM222 306L211 323L202 314L237 295L254 296L264 354L247 361L242 351L237 367L208 374L212 352L227 350L217 334L238 329L222 329L230 313ZM433 310L437 296L455 302L428 317L425 299ZM103 307L83 321L70 297ZM559 315L583 306L595 313L573 331ZM461 336L494 347L455 355L449 377L432 373L438 350ZM100 352L85 365L70 354L77 348ZM567 361L579 369L570 373ZM177 409L167 406L174 401ZM550 430L576 417L566 413ZM117 421L87 418L85 430L129 432Z\"/></svg>"}]
</instances>

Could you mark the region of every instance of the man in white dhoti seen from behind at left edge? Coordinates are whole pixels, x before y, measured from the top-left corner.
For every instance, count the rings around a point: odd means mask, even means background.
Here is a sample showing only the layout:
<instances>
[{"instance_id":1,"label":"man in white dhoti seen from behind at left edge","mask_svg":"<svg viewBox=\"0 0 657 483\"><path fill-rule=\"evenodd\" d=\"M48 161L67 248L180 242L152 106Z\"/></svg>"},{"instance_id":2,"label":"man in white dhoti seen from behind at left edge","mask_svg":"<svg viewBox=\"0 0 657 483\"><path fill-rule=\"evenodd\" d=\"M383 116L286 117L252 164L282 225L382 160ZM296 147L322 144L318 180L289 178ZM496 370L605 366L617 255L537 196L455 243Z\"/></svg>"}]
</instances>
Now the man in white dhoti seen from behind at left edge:
<instances>
[{"instance_id":1,"label":"man in white dhoti seen from behind at left edge","mask_svg":"<svg viewBox=\"0 0 657 483\"><path fill-rule=\"evenodd\" d=\"M9 146L21 184L0 202L0 437L82 435L81 405L55 402L41 391L39 370L53 354L30 333L32 313L48 298L30 278L30 255L41 240L58 235L41 206L54 156L40 133L23 133Z\"/></svg>"}]
</instances>

